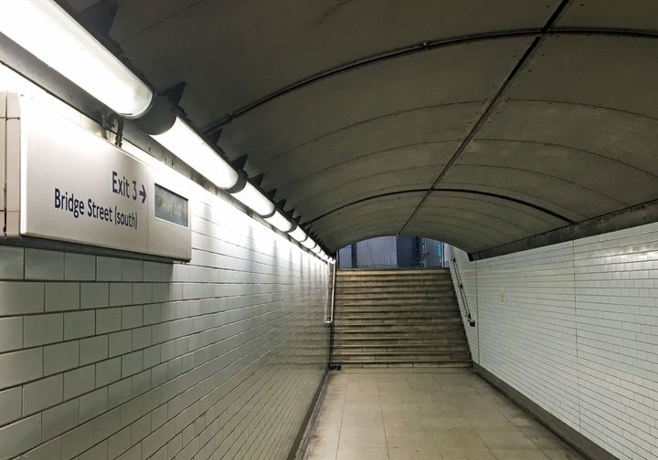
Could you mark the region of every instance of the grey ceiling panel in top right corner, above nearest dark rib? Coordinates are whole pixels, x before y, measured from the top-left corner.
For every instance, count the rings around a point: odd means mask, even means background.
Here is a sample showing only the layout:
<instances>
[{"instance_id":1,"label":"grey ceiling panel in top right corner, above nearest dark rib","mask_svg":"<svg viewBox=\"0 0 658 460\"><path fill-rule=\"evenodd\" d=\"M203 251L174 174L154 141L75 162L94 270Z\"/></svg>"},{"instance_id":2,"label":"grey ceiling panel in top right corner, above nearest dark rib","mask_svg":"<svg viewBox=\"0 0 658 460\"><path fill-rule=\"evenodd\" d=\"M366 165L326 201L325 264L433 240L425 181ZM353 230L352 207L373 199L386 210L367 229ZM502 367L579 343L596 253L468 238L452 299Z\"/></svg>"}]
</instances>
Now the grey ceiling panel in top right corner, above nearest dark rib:
<instances>
[{"instance_id":1,"label":"grey ceiling panel in top right corner, above nearest dark rib","mask_svg":"<svg viewBox=\"0 0 658 460\"><path fill-rule=\"evenodd\" d=\"M611 27L656 30L658 2L655 0L578 0L572 1L557 20L559 27Z\"/></svg>"}]
</instances>

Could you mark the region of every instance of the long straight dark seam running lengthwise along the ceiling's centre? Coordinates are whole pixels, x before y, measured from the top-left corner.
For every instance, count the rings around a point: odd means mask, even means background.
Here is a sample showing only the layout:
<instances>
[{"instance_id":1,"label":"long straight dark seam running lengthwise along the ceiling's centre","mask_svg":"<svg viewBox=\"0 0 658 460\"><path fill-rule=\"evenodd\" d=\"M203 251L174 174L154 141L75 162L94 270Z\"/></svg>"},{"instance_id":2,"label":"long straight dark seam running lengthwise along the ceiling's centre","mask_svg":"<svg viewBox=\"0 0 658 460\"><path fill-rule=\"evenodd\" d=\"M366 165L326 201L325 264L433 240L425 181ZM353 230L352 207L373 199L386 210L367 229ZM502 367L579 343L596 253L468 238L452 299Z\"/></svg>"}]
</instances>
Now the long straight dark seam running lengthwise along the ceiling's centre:
<instances>
[{"instance_id":1,"label":"long straight dark seam running lengthwise along the ceiling's centre","mask_svg":"<svg viewBox=\"0 0 658 460\"><path fill-rule=\"evenodd\" d=\"M515 79L516 75L518 75L519 71L521 68L524 66L525 62L528 60L528 58L533 54L535 51L536 47L541 43L541 41L544 38L544 35L547 33L548 30L553 26L553 24L556 22L557 18L561 15L561 13L564 11L564 9L567 7L568 3L570 0L562 0L559 5L557 5L556 10L553 12L553 14L548 18L547 23L542 27L541 33L542 35L535 37L530 43L530 45L525 49L525 53L519 58L519 60L516 62L514 68L510 71L509 75L507 75L507 78L504 79L503 84L501 87L496 91L495 95L491 99L491 102L487 105L487 107L484 109L482 115L480 118L475 122L475 124L472 126L471 131L466 135L460 146L457 148L457 151L454 152L452 155L451 159L448 161L448 163L445 165L445 167L440 171L439 175L437 178L434 180L430 188L435 188L438 183L443 179L443 177L448 173L448 170L450 170L452 164L457 161L457 159L460 157L462 152L466 149L466 146L471 143L473 137L475 134L478 133L483 127L483 124L486 120L489 119L490 115L493 112L493 109L498 105L500 100L503 98L503 94L507 88L512 84L513 80ZM428 199L430 196L431 191L428 190L427 193L423 195L423 197L420 199L419 204L414 208L414 210L411 212L409 215L409 218L405 221L405 223L400 227L398 230L398 235L400 235L402 232L404 232L405 227L409 225L409 222L411 219L414 218L414 216L418 213L420 206L425 203L425 201Z\"/></svg>"}]
</instances>

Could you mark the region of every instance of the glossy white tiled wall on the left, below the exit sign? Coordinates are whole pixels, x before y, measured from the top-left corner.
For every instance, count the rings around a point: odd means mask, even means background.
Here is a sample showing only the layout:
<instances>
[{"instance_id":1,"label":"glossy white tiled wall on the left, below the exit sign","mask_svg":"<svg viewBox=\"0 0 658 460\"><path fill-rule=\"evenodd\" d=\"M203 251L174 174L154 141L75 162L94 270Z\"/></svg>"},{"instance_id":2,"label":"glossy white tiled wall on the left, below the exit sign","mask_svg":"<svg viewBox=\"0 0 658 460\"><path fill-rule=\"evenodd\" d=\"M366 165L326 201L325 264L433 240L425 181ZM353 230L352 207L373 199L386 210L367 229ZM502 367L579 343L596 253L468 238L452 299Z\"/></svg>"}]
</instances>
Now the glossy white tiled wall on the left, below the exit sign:
<instances>
[{"instance_id":1,"label":"glossy white tiled wall on the left, below the exit sign","mask_svg":"<svg viewBox=\"0 0 658 460\"><path fill-rule=\"evenodd\" d=\"M193 259L0 246L0 459L284 459L327 268L207 193Z\"/></svg>"}]
</instances>

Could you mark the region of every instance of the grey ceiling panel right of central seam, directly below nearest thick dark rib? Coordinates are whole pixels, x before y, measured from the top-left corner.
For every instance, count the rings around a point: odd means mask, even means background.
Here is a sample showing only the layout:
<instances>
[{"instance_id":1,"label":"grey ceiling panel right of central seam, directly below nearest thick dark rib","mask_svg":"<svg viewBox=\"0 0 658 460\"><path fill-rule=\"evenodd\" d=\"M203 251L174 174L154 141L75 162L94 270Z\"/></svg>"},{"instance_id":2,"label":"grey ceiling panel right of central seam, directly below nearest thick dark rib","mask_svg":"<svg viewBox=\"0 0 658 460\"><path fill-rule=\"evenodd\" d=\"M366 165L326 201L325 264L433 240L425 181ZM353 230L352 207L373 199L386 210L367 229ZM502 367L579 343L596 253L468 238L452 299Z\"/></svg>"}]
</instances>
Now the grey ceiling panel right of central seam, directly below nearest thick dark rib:
<instances>
[{"instance_id":1,"label":"grey ceiling panel right of central seam, directly below nearest thick dark rib","mask_svg":"<svg viewBox=\"0 0 658 460\"><path fill-rule=\"evenodd\" d=\"M654 16L658 26L658 19ZM658 38L547 37L508 99L568 101L658 118Z\"/></svg>"}]
</instances>

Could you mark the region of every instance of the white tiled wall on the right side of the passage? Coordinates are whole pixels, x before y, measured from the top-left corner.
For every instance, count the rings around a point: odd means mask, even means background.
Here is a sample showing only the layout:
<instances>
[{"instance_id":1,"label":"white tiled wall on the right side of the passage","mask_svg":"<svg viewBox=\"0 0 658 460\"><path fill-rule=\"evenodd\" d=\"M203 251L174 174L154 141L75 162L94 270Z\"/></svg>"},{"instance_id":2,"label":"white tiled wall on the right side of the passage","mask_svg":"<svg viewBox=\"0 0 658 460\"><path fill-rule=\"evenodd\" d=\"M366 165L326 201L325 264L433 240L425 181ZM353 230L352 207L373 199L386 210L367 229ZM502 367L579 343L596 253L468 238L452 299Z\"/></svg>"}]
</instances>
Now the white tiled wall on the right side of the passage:
<instances>
[{"instance_id":1,"label":"white tiled wall on the right side of the passage","mask_svg":"<svg viewBox=\"0 0 658 460\"><path fill-rule=\"evenodd\" d=\"M658 224L456 253L477 298L473 359L612 455L658 459Z\"/></svg>"}]
</instances>

